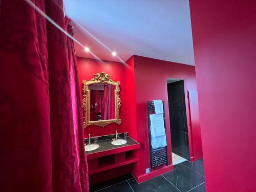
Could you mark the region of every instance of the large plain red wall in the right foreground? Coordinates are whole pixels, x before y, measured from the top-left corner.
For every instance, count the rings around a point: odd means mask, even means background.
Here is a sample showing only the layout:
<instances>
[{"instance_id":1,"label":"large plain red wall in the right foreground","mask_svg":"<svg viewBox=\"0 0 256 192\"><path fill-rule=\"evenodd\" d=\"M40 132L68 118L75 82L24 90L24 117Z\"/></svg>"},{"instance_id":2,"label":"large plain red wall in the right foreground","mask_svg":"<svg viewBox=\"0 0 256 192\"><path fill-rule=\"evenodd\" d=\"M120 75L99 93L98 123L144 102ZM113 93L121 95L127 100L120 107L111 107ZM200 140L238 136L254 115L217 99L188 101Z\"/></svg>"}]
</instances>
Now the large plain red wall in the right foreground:
<instances>
[{"instance_id":1,"label":"large plain red wall in the right foreground","mask_svg":"<svg viewBox=\"0 0 256 192\"><path fill-rule=\"evenodd\" d=\"M190 1L207 191L256 190L256 2Z\"/></svg>"}]
</instances>

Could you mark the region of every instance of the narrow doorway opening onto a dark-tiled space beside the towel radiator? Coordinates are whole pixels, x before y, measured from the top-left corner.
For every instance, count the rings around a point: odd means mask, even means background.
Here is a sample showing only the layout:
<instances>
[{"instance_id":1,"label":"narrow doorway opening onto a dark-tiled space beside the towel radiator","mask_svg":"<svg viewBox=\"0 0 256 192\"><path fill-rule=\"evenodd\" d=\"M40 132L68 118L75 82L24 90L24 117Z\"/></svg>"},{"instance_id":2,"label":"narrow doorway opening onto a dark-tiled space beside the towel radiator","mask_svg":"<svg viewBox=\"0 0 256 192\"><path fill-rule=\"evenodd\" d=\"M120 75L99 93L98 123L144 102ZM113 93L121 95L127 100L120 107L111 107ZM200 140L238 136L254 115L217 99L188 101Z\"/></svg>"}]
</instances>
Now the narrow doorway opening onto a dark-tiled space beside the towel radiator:
<instances>
[{"instance_id":1,"label":"narrow doorway opening onto a dark-tiled space beside the towel radiator","mask_svg":"<svg viewBox=\"0 0 256 192\"><path fill-rule=\"evenodd\" d=\"M184 81L168 79L168 106L173 164L189 160Z\"/></svg>"}]
</instances>

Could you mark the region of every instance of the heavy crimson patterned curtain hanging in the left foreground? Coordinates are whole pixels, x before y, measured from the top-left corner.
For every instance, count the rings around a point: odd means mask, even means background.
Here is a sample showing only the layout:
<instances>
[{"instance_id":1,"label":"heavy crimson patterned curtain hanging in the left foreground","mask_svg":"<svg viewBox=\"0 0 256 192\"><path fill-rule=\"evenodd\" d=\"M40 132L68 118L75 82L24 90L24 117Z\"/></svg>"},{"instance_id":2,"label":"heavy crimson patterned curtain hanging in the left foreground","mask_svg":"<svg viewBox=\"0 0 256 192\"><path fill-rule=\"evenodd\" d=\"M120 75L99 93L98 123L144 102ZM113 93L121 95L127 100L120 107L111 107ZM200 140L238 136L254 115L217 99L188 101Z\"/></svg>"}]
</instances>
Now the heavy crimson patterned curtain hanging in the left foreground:
<instances>
[{"instance_id":1,"label":"heavy crimson patterned curtain hanging in the left foreground","mask_svg":"<svg viewBox=\"0 0 256 192\"><path fill-rule=\"evenodd\" d=\"M32 2L71 32L61 0ZM88 191L73 41L20 0L0 29L0 191Z\"/></svg>"}]
</instances>

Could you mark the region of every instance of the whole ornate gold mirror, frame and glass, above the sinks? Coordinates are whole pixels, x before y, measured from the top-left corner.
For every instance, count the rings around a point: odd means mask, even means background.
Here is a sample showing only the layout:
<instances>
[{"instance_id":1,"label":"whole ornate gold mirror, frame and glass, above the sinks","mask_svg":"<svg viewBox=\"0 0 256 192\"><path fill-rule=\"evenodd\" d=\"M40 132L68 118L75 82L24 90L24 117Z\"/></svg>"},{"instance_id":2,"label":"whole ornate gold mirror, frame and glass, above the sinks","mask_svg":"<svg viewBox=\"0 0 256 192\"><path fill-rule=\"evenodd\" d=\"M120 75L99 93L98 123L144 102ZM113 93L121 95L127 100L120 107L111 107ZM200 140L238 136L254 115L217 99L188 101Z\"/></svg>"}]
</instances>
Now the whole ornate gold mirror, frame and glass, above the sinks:
<instances>
[{"instance_id":1,"label":"whole ornate gold mirror, frame and glass, above the sinks","mask_svg":"<svg viewBox=\"0 0 256 192\"><path fill-rule=\"evenodd\" d=\"M94 78L82 81L84 128L89 125L106 126L110 123L121 124L119 117L120 82L110 79L104 73L94 74Z\"/></svg>"}]
</instances>

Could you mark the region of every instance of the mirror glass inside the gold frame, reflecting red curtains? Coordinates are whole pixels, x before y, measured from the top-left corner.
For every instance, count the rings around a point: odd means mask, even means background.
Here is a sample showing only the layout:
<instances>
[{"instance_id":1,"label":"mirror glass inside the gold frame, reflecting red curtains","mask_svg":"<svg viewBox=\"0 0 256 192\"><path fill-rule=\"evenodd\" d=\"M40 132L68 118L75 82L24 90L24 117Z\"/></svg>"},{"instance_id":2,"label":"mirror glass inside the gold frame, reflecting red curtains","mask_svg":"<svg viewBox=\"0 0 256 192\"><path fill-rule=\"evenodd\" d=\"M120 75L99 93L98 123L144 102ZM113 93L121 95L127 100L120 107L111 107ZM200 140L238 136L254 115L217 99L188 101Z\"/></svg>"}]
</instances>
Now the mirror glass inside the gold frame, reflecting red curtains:
<instances>
[{"instance_id":1,"label":"mirror glass inside the gold frame, reflecting red curtains","mask_svg":"<svg viewBox=\"0 0 256 192\"><path fill-rule=\"evenodd\" d=\"M107 83L95 83L90 90L90 121L115 119L116 86Z\"/></svg>"}]
</instances>

